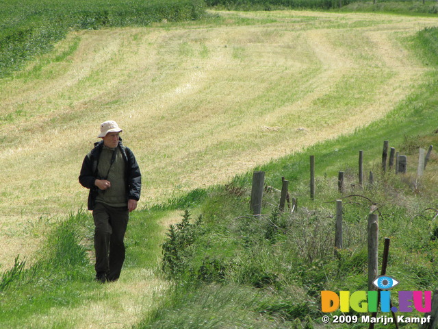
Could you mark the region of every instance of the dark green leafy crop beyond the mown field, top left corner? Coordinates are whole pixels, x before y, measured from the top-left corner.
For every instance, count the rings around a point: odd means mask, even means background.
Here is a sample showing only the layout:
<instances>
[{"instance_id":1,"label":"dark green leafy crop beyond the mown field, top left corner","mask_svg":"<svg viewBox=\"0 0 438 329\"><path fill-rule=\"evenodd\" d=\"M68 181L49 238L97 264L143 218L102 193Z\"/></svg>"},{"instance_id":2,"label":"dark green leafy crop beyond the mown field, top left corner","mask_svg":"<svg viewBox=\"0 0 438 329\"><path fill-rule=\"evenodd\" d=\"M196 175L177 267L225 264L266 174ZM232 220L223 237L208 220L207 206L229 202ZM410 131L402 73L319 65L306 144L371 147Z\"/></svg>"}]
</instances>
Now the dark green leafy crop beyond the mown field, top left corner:
<instances>
[{"instance_id":1,"label":"dark green leafy crop beyond the mown field, top left corner","mask_svg":"<svg viewBox=\"0 0 438 329\"><path fill-rule=\"evenodd\" d=\"M186 21L204 13L202 0L1 1L0 77L53 48L69 31Z\"/></svg>"}]
</instances>

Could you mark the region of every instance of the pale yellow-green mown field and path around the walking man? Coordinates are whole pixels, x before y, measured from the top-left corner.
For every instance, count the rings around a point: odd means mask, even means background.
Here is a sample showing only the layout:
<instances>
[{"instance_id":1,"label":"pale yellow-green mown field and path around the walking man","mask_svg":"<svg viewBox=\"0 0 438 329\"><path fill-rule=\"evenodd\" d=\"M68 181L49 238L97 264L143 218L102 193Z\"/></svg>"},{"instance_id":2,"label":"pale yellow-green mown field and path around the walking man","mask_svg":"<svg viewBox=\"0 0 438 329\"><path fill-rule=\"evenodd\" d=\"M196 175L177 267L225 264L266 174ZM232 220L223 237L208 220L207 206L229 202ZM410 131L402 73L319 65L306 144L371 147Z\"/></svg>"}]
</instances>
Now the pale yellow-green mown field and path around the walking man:
<instances>
[{"instance_id":1,"label":"pale yellow-green mown field and path around the walking man","mask_svg":"<svg viewBox=\"0 0 438 329\"><path fill-rule=\"evenodd\" d=\"M79 186L77 175L101 121L115 119L125 130L124 141L135 151L144 175L141 206L150 208L373 122L376 129L368 131L385 136L385 130L377 128L388 128L381 120L394 110L401 118L398 122L393 117L394 130L406 128L403 118L410 114L403 117L403 101L423 92L435 76L431 57L419 56L413 38L420 29L436 25L433 18L320 12L212 14L191 23L72 32L54 51L1 80L2 270L13 264L16 254L38 259L34 251L38 241L46 241L51 223L85 205L87 191ZM414 106L421 117L422 101L416 100ZM411 133L419 131L415 126ZM402 138L400 131L389 134L398 141ZM373 141L374 137L370 136ZM366 138L360 135L357 143L363 146ZM338 170L333 157L339 153L333 150L343 150L345 146L336 144L340 141L324 144L327 149L315 147L325 160L321 170ZM348 138L344 143L352 149L357 145ZM275 171L298 175L305 170L300 161L280 164ZM274 182L271 177L268 180ZM248 176L235 180L244 185ZM192 195L198 202L196 193ZM219 211L211 204L196 211ZM231 217L242 204L233 207ZM53 247L65 253L47 255L53 267L44 270L54 270L55 277L34 282L27 274L26 287L34 289L34 302L27 301L28 291L17 289L16 308L2 304L8 307L7 312L3 309L3 324L120 328L139 323L169 287L157 275L163 236L151 232L162 232L162 221L167 219L167 225L179 214L159 211L133 216L127 234L132 253L120 282L90 286L92 265L83 263L88 249L75 249L79 258L64 271L55 265L63 265L71 250ZM78 218L76 225L86 239L78 243L72 237L72 245L90 247L90 217ZM60 297L65 284L71 290ZM195 294L190 300L195 316L196 301L202 304L202 295L216 290L203 289L201 297ZM227 296L232 296L227 289L217 292L223 310L229 307ZM250 297L245 289L237 289L237 295ZM72 295L76 298L70 300ZM252 302L246 300L245 305L253 307ZM172 311L180 313L178 307L168 308L168 316ZM236 312L230 314L248 315L245 310ZM150 323L142 326L156 328Z\"/></svg>"}]
</instances>

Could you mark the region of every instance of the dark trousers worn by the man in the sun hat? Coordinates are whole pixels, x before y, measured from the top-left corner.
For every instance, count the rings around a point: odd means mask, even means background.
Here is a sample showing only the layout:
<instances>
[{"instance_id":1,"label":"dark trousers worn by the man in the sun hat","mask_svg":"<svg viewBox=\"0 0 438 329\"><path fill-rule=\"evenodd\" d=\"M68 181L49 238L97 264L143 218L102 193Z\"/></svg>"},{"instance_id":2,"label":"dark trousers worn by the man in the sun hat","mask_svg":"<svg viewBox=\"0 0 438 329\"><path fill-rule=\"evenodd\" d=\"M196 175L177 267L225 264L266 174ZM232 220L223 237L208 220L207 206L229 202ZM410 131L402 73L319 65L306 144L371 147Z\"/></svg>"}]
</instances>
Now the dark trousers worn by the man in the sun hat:
<instances>
[{"instance_id":1,"label":"dark trousers worn by the man in the sun hat","mask_svg":"<svg viewBox=\"0 0 438 329\"><path fill-rule=\"evenodd\" d=\"M128 209L96 203L93 218L96 277L106 276L109 281L117 280L125 261L123 239L129 219Z\"/></svg>"}]
</instances>

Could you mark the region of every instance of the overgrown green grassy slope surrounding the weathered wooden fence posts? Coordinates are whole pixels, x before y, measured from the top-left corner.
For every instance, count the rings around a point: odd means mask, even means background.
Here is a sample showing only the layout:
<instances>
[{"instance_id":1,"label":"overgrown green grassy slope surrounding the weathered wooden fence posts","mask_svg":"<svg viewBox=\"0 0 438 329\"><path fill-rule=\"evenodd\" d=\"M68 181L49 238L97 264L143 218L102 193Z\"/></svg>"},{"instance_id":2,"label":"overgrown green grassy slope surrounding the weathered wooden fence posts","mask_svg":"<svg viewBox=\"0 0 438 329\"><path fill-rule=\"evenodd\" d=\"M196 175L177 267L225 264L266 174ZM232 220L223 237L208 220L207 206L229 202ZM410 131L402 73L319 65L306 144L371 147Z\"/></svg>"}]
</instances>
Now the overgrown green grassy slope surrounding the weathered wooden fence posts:
<instances>
[{"instance_id":1,"label":"overgrown green grassy slope surrounding the weathered wooden fence posts","mask_svg":"<svg viewBox=\"0 0 438 329\"><path fill-rule=\"evenodd\" d=\"M207 198L198 200L192 211L205 215L203 225L185 229L180 239L189 241L183 236L190 236L190 232L197 238L189 247L179 249L181 259L173 269L177 280L190 283L170 295L168 304L138 328L326 328L320 324L321 290L367 289L367 253L363 246L370 204L361 197L346 197L353 193L372 199L380 207L380 247L383 237L389 236L387 273L400 280L396 290L434 291L438 287L435 267L438 162L434 155L422 180L415 177L415 162L418 147L438 142L438 97L434 92L438 86L437 36L437 29L428 29L412 40L413 47L424 51L419 51L418 56L429 64L435 63L435 72L385 120L352 136L315 145L259 168L266 171L268 184L278 187L282 175L292 180L292 196L298 196L300 202L297 215L270 215L279 195L268 193L264 204L266 217L259 221L248 217L251 173L235 178L232 188L210 190ZM384 139L409 156L407 175L380 175ZM336 170L346 170L348 184L357 186L355 167L359 149L367 154L365 167L377 173L376 184L365 190L348 188L340 195L336 191ZM310 154L319 160L315 201L308 197ZM332 204L339 197L346 197L346 235L345 249L335 257ZM332 327L363 328L363 324Z\"/></svg>"}]
</instances>

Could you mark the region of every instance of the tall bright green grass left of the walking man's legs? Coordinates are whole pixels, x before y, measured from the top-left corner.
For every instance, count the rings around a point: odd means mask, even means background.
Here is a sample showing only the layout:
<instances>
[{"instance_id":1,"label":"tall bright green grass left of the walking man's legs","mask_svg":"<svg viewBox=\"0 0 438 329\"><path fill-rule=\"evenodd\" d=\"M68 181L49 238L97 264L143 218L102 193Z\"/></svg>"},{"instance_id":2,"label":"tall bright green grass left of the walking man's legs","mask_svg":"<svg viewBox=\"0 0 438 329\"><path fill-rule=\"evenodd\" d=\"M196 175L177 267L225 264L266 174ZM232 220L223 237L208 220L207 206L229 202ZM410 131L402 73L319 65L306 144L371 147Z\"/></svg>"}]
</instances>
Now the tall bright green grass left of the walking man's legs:
<instances>
[{"instance_id":1,"label":"tall bright green grass left of the walking man's legs","mask_svg":"<svg viewBox=\"0 0 438 329\"><path fill-rule=\"evenodd\" d=\"M83 302L83 293L96 289L88 257L92 234L86 212L70 215L51 230L40 257L30 264L15 260L0 282L0 327L25 328L35 314Z\"/></svg>"}]
</instances>

